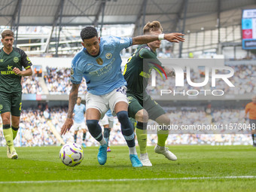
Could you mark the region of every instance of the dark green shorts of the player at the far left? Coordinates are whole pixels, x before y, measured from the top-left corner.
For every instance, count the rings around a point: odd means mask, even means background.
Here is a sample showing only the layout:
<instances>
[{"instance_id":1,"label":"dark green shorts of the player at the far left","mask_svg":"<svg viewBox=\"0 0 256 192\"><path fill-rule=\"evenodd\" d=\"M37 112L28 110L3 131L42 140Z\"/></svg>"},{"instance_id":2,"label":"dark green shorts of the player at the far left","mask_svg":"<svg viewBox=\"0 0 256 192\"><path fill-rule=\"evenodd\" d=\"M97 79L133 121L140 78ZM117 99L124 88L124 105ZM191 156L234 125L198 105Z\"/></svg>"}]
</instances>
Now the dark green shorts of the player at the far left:
<instances>
[{"instance_id":1,"label":"dark green shorts of the player at the far left","mask_svg":"<svg viewBox=\"0 0 256 192\"><path fill-rule=\"evenodd\" d=\"M20 117L22 93L0 92L0 114L11 112L11 115Z\"/></svg>"}]
</instances>

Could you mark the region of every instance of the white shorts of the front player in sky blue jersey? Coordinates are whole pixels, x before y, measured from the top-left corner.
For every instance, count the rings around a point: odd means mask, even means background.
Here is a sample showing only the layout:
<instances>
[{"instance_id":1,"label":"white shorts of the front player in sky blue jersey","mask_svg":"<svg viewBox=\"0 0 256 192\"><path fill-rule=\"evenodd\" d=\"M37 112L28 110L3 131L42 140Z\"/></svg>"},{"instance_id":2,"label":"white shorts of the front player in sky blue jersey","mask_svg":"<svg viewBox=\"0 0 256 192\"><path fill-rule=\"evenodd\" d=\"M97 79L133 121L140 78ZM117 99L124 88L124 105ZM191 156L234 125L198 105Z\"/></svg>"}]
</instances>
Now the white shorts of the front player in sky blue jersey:
<instances>
[{"instance_id":1,"label":"white shorts of the front player in sky blue jersey","mask_svg":"<svg viewBox=\"0 0 256 192\"><path fill-rule=\"evenodd\" d=\"M107 93L102 96L96 96L92 93L87 93L86 96L86 104L88 108L96 108L102 114L101 119L104 117L105 113L110 108L112 114L114 115L114 106L117 102L126 102L128 104L128 99L126 97L125 86L119 87L111 91L111 93Z\"/></svg>"}]
</instances>

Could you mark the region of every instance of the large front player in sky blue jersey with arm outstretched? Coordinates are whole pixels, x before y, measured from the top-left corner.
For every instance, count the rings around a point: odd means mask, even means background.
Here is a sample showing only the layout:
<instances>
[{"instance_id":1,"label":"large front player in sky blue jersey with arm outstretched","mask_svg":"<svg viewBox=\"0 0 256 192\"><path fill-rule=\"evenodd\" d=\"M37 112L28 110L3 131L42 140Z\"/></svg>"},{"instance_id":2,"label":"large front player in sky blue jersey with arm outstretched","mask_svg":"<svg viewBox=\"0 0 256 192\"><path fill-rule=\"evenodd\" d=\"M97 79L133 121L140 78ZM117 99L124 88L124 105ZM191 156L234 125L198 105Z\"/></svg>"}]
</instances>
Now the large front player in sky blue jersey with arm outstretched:
<instances>
[{"instance_id":1,"label":"large front player in sky blue jersey with arm outstretched","mask_svg":"<svg viewBox=\"0 0 256 192\"><path fill-rule=\"evenodd\" d=\"M99 144L98 162L104 165L107 161L107 142L102 136L99 119L108 108L115 114L121 124L121 132L129 147L130 160L133 167L142 166L136 152L133 125L128 117L128 101L126 98L126 81L120 70L120 50L133 44L147 44L158 39L177 42L183 41L180 33L161 35L142 35L134 38L104 37L99 38L94 27L87 26L81 31L84 48L72 60L69 93L69 111L62 126L61 135L70 130L73 120L72 113L78 98L78 88L84 77L87 82L87 114L88 130Z\"/></svg>"}]
</instances>

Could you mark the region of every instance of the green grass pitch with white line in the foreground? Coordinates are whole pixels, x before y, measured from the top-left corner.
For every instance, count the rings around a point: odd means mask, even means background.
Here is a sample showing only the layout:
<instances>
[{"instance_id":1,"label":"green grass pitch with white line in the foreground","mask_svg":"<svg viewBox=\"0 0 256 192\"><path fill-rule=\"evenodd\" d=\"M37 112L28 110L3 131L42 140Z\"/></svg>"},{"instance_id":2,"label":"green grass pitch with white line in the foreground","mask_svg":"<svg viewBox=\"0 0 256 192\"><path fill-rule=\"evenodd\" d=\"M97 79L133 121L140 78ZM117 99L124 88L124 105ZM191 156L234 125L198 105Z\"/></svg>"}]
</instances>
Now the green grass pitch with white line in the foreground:
<instances>
[{"instance_id":1,"label":"green grass pitch with white line in the foreground","mask_svg":"<svg viewBox=\"0 0 256 192\"><path fill-rule=\"evenodd\" d=\"M177 161L148 147L153 166L133 168L128 148L123 146L111 146L105 166L96 159L98 148L85 148L83 162L75 167L62 164L60 147L17 148L18 160L9 160L2 147L0 191L255 191L256 148L252 146L178 145L169 149Z\"/></svg>"}]
</instances>

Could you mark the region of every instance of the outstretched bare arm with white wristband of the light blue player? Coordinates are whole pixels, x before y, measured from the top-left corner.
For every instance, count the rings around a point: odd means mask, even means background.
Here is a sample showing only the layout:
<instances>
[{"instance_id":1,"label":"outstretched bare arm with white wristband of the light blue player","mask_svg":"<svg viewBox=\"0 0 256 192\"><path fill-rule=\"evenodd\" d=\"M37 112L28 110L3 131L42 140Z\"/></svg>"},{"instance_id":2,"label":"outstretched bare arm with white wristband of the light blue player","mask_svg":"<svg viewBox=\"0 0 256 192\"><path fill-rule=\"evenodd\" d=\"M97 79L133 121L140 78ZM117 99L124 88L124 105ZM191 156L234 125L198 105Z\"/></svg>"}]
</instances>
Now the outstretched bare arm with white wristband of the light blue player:
<instances>
[{"instance_id":1,"label":"outstretched bare arm with white wristband of the light blue player","mask_svg":"<svg viewBox=\"0 0 256 192\"><path fill-rule=\"evenodd\" d=\"M163 34L162 34L163 35ZM180 41L184 41L185 39L182 38L184 34L179 32L167 33L163 35L163 39L169 42L178 43ZM140 35L133 38L133 45L134 44L148 44L152 41L161 40L160 35Z\"/></svg>"}]
</instances>

